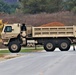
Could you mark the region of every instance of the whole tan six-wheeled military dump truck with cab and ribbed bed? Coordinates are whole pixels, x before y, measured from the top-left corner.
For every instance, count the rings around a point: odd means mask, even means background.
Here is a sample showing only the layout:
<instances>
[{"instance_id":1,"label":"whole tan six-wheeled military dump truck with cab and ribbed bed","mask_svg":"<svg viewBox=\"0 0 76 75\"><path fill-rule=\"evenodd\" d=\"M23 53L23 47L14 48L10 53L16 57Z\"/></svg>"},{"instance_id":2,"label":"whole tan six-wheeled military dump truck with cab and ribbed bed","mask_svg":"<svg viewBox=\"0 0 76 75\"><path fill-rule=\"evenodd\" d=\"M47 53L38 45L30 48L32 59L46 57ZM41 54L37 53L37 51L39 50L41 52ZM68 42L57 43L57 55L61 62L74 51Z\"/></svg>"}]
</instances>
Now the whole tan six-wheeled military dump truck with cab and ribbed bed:
<instances>
[{"instance_id":1,"label":"whole tan six-wheeled military dump truck with cab and ribbed bed","mask_svg":"<svg viewBox=\"0 0 76 75\"><path fill-rule=\"evenodd\" d=\"M25 24L5 24L1 33L3 44L12 53L17 53L22 46L27 46L28 40L43 45L47 52L58 47L61 51L68 51L72 44L76 44L76 26L32 27Z\"/></svg>"}]
</instances>

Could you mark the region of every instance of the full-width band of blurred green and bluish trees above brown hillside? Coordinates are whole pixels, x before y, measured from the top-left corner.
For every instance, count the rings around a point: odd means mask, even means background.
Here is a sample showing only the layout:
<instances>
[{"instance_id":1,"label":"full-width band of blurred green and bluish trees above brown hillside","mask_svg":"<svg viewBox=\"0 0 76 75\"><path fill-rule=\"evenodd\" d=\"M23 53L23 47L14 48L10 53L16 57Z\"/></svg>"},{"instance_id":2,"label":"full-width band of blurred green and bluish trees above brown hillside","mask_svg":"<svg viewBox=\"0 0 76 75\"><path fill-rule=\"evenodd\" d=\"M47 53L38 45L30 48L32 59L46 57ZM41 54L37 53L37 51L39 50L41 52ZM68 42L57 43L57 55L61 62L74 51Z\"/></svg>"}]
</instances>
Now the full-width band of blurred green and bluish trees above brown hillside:
<instances>
[{"instance_id":1,"label":"full-width band of blurred green and bluish trees above brown hillside","mask_svg":"<svg viewBox=\"0 0 76 75\"><path fill-rule=\"evenodd\" d=\"M25 14L54 13L59 11L76 13L76 0L19 0L19 3L12 5L0 0L0 12L15 13L16 9Z\"/></svg>"}]
</instances>

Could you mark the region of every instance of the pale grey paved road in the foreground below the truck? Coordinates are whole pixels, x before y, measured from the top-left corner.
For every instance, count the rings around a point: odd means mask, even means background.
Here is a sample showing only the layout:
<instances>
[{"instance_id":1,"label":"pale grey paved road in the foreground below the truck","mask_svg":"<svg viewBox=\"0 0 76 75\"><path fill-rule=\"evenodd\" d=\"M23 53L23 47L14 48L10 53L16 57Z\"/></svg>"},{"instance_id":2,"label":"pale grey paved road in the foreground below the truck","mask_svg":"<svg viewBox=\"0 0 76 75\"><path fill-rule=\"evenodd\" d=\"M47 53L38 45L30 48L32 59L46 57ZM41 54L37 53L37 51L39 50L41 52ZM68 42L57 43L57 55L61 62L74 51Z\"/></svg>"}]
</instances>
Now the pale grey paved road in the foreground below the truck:
<instances>
[{"instance_id":1,"label":"pale grey paved road in the foreground below the truck","mask_svg":"<svg viewBox=\"0 0 76 75\"><path fill-rule=\"evenodd\" d=\"M0 75L76 75L76 51L25 53L0 62Z\"/></svg>"}]
</instances>

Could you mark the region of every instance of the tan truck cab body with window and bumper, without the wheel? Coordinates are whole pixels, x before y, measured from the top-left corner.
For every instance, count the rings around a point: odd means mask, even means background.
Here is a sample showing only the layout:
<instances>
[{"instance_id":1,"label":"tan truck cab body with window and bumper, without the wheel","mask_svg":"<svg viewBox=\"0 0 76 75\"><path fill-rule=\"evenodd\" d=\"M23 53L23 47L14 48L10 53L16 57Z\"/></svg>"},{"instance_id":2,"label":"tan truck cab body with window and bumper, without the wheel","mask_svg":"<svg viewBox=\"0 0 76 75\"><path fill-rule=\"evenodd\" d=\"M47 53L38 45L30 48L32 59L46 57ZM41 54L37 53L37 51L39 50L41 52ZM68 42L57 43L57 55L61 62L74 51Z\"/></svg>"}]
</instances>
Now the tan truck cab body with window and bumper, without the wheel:
<instances>
[{"instance_id":1,"label":"tan truck cab body with window and bumper, without the wheel","mask_svg":"<svg viewBox=\"0 0 76 75\"><path fill-rule=\"evenodd\" d=\"M16 38L20 33L20 24L5 24L1 33L4 45L8 45L11 38Z\"/></svg>"}]
</instances>

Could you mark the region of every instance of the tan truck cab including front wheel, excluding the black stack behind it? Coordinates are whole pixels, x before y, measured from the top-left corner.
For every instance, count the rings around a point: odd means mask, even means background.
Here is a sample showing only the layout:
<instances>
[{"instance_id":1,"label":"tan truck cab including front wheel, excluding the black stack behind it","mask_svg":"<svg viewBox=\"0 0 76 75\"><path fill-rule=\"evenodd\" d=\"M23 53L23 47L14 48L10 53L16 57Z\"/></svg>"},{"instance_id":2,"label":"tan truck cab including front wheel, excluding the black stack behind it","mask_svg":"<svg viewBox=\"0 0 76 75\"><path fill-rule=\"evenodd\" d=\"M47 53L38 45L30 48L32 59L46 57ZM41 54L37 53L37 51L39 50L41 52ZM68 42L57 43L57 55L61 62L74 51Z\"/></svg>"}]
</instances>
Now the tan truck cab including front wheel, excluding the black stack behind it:
<instances>
[{"instance_id":1,"label":"tan truck cab including front wheel, excluding the black stack behind it","mask_svg":"<svg viewBox=\"0 0 76 75\"><path fill-rule=\"evenodd\" d=\"M3 44L8 47L12 53L21 50L19 35L21 33L21 24L5 24L1 33Z\"/></svg>"}]
</instances>

